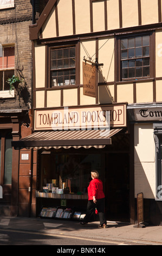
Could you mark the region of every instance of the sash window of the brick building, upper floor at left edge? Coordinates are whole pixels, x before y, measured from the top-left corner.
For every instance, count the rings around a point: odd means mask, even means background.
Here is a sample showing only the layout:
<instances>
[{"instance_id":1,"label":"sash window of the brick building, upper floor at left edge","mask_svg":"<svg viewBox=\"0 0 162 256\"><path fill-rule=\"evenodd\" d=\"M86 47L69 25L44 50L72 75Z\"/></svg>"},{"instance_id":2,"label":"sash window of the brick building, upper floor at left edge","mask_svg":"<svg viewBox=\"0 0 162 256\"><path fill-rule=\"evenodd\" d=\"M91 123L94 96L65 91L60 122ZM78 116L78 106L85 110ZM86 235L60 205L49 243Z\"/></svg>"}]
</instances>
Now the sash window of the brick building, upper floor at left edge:
<instances>
[{"instance_id":1,"label":"sash window of the brick building, upper floor at left edge","mask_svg":"<svg viewBox=\"0 0 162 256\"><path fill-rule=\"evenodd\" d=\"M0 55L0 90L9 90L8 78L14 75L15 47L2 47Z\"/></svg>"}]
</instances>

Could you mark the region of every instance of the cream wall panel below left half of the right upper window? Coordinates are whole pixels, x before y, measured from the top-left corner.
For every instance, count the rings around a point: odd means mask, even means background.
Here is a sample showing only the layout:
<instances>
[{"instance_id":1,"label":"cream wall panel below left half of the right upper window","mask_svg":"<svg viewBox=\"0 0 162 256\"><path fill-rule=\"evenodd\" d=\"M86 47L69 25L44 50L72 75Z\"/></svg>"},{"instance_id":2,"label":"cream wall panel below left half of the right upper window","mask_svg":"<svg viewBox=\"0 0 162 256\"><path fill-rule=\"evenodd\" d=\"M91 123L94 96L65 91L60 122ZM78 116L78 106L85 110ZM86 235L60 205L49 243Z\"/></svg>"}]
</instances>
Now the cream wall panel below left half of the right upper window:
<instances>
[{"instance_id":1,"label":"cream wall panel below left half of the right upper window","mask_svg":"<svg viewBox=\"0 0 162 256\"><path fill-rule=\"evenodd\" d=\"M117 102L133 103L133 84L118 84Z\"/></svg>"}]
</instances>

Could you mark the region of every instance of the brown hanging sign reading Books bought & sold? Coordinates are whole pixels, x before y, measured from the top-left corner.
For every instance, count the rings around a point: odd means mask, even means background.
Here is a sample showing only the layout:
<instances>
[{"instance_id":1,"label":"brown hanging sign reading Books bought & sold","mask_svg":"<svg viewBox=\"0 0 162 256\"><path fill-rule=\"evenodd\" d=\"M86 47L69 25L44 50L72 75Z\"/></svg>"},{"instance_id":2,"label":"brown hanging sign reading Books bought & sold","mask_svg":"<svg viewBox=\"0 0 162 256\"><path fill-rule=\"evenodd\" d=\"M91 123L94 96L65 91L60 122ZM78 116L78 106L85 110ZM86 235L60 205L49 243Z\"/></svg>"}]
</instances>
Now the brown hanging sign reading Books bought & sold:
<instances>
[{"instance_id":1,"label":"brown hanging sign reading Books bought & sold","mask_svg":"<svg viewBox=\"0 0 162 256\"><path fill-rule=\"evenodd\" d=\"M96 97L96 68L83 62L83 95Z\"/></svg>"}]
</instances>

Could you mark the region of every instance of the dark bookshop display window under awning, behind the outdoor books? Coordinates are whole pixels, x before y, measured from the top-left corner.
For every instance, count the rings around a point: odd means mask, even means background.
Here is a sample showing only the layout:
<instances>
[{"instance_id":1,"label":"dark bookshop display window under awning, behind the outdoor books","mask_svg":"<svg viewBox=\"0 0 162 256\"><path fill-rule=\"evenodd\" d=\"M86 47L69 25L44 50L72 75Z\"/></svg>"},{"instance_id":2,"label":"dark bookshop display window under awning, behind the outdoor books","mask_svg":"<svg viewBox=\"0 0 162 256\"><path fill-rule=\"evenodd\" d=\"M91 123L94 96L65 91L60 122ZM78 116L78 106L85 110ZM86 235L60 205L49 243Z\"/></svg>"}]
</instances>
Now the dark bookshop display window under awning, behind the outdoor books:
<instances>
[{"instance_id":1,"label":"dark bookshop display window under awning, behind the outdoor books","mask_svg":"<svg viewBox=\"0 0 162 256\"><path fill-rule=\"evenodd\" d=\"M41 179L40 190L47 184L53 184L63 193L69 194L87 194L87 187L91 180L90 172L98 170L100 179L101 173L101 155L57 155L54 153L41 154Z\"/></svg>"}]
</instances>

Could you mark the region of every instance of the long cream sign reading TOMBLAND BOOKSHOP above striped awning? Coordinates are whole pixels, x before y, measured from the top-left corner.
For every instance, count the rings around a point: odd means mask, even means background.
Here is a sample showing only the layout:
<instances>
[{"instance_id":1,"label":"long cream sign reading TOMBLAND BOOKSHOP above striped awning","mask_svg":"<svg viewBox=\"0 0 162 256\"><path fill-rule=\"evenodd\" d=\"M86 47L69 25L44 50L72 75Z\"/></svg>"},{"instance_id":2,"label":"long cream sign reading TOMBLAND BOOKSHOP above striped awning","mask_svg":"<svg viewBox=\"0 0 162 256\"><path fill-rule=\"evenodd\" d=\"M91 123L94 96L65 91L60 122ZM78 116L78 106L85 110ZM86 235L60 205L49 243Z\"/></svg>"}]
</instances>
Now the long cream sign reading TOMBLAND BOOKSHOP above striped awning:
<instances>
[{"instance_id":1,"label":"long cream sign reading TOMBLAND BOOKSHOP above striped awning","mask_svg":"<svg viewBox=\"0 0 162 256\"><path fill-rule=\"evenodd\" d=\"M41 109L34 112L35 130L85 130L126 126L126 104Z\"/></svg>"}]
</instances>

